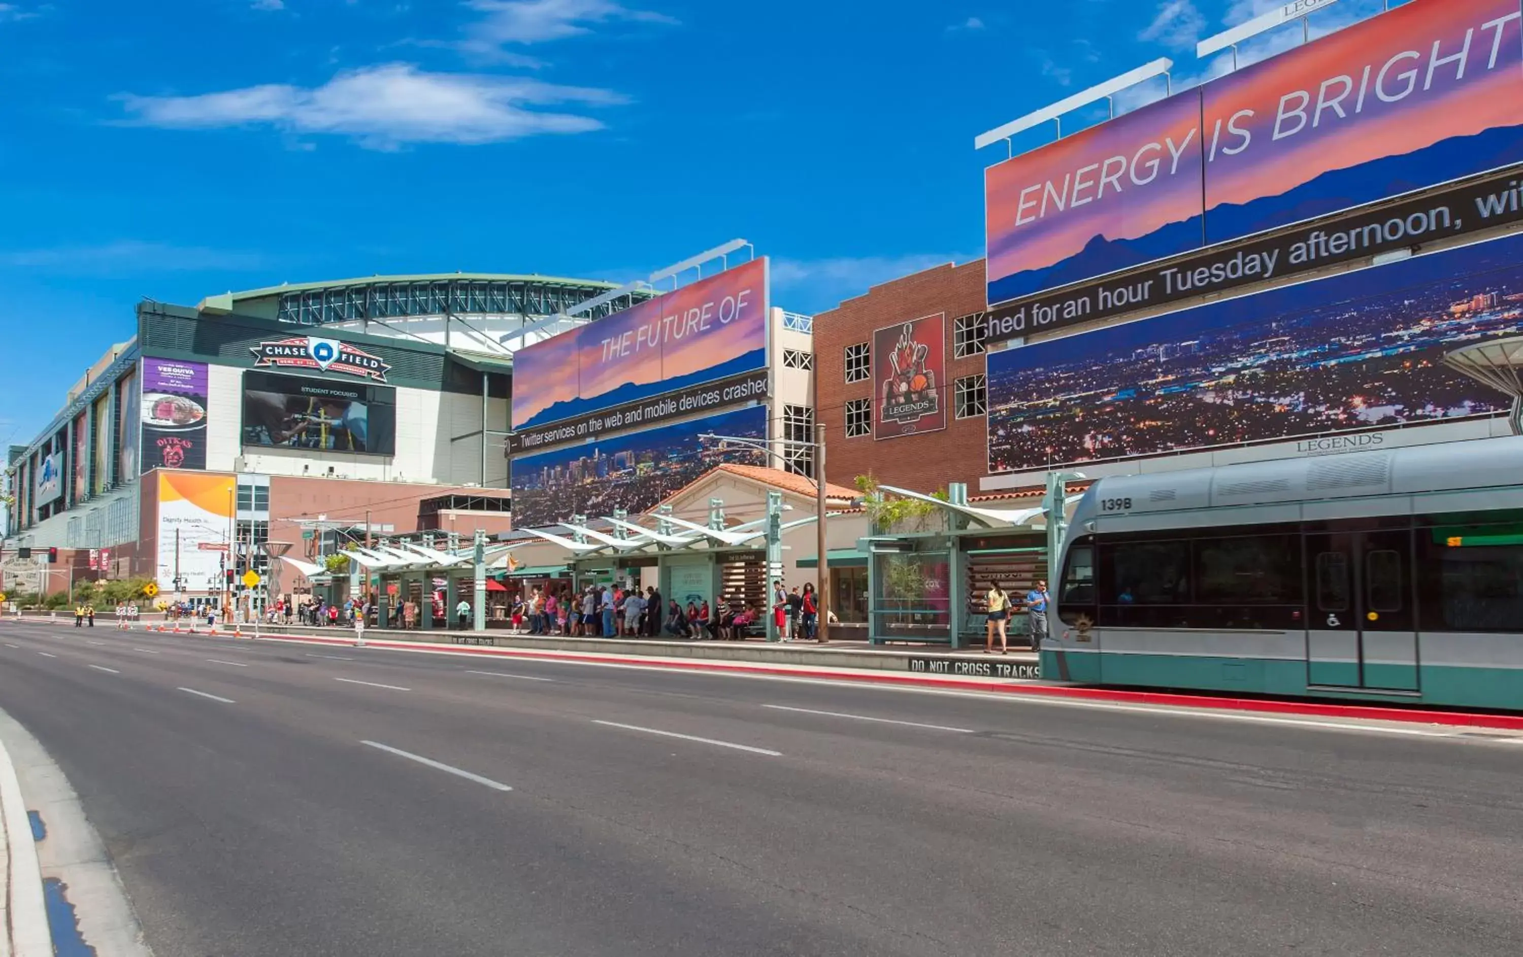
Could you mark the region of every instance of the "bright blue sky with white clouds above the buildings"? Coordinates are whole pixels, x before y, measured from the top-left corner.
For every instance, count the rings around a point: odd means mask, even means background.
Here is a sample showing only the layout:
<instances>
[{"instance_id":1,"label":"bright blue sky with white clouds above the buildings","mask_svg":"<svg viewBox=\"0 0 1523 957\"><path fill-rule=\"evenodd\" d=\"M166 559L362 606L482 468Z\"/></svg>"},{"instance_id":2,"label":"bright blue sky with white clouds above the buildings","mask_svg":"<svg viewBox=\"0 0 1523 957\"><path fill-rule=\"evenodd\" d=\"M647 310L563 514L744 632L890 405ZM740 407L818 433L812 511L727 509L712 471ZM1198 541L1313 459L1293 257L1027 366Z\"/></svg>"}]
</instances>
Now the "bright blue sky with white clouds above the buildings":
<instances>
[{"instance_id":1,"label":"bright blue sky with white clouds above the buildings","mask_svg":"<svg viewBox=\"0 0 1523 957\"><path fill-rule=\"evenodd\" d=\"M743 236L818 312L975 259L975 134L1162 55L1206 78L1193 43L1276 5L0 0L0 444L145 295L624 280Z\"/></svg>"}]
</instances>

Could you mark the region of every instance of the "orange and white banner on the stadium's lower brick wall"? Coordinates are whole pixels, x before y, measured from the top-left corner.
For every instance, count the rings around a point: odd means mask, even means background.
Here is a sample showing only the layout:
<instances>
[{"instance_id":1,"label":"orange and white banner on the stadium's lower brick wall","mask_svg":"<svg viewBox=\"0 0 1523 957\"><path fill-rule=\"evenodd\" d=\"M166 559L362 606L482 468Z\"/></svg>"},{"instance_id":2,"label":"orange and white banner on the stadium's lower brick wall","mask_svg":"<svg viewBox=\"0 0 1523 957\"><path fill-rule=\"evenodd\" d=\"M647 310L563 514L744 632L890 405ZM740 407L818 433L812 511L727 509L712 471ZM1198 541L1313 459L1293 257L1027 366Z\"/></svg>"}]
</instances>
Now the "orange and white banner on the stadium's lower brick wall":
<instances>
[{"instance_id":1,"label":"orange and white banner on the stadium's lower brick wall","mask_svg":"<svg viewBox=\"0 0 1523 957\"><path fill-rule=\"evenodd\" d=\"M158 590L222 589L236 478L207 472L158 473Z\"/></svg>"}]
</instances>

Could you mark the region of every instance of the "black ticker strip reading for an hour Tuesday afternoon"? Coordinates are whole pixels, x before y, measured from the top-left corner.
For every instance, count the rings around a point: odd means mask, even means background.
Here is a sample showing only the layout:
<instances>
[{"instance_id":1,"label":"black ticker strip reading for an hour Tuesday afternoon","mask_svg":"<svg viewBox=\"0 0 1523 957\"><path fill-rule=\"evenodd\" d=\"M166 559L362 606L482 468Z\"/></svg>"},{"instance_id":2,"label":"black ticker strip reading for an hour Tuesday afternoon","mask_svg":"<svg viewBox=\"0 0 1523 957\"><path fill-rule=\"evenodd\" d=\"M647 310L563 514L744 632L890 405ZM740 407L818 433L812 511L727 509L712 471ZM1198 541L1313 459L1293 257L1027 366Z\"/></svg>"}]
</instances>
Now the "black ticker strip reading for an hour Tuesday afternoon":
<instances>
[{"instance_id":1,"label":"black ticker strip reading for an hour Tuesday afternoon","mask_svg":"<svg viewBox=\"0 0 1523 957\"><path fill-rule=\"evenodd\" d=\"M1517 170L990 309L987 341L1052 332L1523 221Z\"/></svg>"}]
</instances>

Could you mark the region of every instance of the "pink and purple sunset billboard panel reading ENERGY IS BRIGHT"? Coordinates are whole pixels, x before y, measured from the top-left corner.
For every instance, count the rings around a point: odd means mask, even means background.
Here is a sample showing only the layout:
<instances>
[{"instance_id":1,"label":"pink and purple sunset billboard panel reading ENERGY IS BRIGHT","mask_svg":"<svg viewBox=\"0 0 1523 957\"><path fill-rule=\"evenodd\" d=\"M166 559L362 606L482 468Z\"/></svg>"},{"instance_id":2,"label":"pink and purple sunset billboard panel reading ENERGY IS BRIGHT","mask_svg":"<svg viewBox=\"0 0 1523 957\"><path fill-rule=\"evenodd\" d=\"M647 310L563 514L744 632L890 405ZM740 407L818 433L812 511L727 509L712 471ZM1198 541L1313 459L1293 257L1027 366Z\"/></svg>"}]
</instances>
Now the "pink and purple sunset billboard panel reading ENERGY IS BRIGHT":
<instances>
[{"instance_id":1,"label":"pink and purple sunset billboard panel reading ENERGY IS BRIGHT","mask_svg":"<svg viewBox=\"0 0 1523 957\"><path fill-rule=\"evenodd\" d=\"M1412 0L988 167L988 301L1523 160L1520 24Z\"/></svg>"}]
</instances>

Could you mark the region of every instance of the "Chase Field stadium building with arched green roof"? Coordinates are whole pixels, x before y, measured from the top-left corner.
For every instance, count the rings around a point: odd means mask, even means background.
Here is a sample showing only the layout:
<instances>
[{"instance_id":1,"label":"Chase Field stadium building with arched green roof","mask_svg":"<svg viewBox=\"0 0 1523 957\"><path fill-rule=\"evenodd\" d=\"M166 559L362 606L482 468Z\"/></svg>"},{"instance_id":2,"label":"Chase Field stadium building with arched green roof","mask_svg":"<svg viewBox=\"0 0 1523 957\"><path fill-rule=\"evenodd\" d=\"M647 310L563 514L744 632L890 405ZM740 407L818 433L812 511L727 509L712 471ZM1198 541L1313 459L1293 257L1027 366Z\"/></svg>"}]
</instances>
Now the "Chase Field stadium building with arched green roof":
<instances>
[{"instance_id":1,"label":"Chase Field stadium building with arched green roof","mask_svg":"<svg viewBox=\"0 0 1523 957\"><path fill-rule=\"evenodd\" d=\"M458 272L143 301L9 449L8 587L142 577L207 599L253 564L262 599L306 584L273 557L335 533L506 531L512 356L650 297L612 291Z\"/></svg>"}]
</instances>

